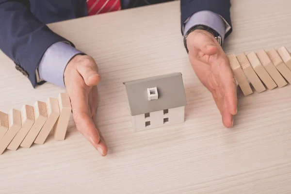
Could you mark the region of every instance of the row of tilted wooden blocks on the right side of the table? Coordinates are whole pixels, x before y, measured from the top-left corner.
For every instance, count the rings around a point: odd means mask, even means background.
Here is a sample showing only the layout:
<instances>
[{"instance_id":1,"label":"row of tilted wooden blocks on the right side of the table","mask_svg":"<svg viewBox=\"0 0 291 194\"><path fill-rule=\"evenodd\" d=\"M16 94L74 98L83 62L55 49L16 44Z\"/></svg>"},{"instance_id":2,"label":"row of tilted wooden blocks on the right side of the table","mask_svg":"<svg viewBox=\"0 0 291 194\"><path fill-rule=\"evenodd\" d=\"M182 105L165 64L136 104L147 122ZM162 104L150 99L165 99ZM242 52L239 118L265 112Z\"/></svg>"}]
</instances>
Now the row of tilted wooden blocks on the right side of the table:
<instances>
[{"instance_id":1,"label":"row of tilted wooden blocks on the right side of the table","mask_svg":"<svg viewBox=\"0 0 291 194\"><path fill-rule=\"evenodd\" d=\"M258 52L228 55L235 79L244 96L253 93L249 83L258 93L283 87L291 83L291 54L284 46ZM266 86L266 87L265 87Z\"/></svg>"}]
</instances>

